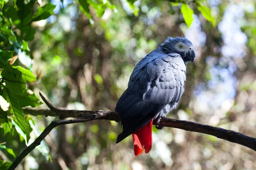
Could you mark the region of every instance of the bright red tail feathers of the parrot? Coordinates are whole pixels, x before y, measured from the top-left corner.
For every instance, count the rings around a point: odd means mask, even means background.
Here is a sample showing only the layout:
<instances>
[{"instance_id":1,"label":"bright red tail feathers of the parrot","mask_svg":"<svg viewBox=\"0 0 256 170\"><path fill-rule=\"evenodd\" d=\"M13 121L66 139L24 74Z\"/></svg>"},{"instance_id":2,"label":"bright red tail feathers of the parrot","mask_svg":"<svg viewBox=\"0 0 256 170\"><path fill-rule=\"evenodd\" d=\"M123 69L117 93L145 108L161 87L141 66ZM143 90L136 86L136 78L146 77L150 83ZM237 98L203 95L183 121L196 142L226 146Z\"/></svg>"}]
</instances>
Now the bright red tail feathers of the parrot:
<instances>
[{"instance_id":1,"label":"bright red tail feathers of the parrot","mask_svg":"<svg viewBox=\"0 0 256 170\"><path fill-rule=\"evenodd\" d=\"M143 148L145 153L148 153L152 147L152 124L153 119L148 122L145 126L141 127L136 132L132 133L134 140L134 154L138 156L143 153Z\"/></svg>"}]
</instances>

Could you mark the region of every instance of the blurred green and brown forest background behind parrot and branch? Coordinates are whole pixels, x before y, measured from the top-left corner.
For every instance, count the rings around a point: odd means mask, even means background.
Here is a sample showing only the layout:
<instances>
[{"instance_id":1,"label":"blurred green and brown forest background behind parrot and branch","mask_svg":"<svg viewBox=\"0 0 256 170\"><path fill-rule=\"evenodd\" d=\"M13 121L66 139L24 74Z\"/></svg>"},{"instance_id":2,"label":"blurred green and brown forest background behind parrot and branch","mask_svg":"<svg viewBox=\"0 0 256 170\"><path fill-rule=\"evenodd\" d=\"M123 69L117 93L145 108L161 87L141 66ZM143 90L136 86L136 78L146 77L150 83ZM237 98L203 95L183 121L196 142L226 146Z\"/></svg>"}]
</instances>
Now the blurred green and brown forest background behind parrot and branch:
<instances>
[{"instance_id":1,"label":"blurred green and brown forest background behind parrot and branch","mask_svg":"<svg viewBox=\"0 0 256 170\"><path fill-rule=\"evenodd\" d=\"M256 136L254 0L87 0L89 12L83 2L38 0L37 7L46 3L56 7L49 18L31 23L32 60L23 63L32 62L34 74L42 71L39 81L28 84L35 94L42 91L54 105L66 109L113 111L137 62L168 36L186 37L194 45L196 59L187 64L185 92L167 116ZM198 2L210 8L211 22ZM182 14L183 4L194 14L186 17L189 10ZM35 127L30 142L57 119L31 117ZM256 169L255 151L213 136L154 127L151 152L136 157L131 136L115 143L120 132L119 123L106 120L57 127L17 170ZM16 156L26 147L14 128L3 134L0 128L0 143L6 142ZM15 160L4 149L0 158Z\"/></svg>"}]
</instances>

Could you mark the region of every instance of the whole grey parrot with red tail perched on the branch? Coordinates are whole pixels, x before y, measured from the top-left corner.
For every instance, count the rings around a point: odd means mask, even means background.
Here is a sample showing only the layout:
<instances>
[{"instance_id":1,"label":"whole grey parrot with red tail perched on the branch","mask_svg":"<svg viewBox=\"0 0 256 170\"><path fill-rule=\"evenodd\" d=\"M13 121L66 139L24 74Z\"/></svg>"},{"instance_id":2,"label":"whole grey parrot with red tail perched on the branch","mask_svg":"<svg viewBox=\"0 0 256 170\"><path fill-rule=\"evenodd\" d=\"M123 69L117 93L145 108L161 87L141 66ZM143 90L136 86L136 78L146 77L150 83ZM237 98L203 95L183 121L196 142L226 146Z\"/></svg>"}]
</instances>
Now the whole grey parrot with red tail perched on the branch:
<instances>
[{"instance_id":1,"label":"whole grey parrot with red tail perched on the branch","mask_svg":"<svg viewBox=\"0 0 256 170\"><path fill-rule=\"evenodd\" d=\"M177 106L184 92L186 64L195 60L192 42L183 37L167 37L135 66L128 88L116 103L122 120L119 143L132 134L134 154L148 153L152 147L152 125L162 129L160 120Z\"/></svg>"}]
</instances>

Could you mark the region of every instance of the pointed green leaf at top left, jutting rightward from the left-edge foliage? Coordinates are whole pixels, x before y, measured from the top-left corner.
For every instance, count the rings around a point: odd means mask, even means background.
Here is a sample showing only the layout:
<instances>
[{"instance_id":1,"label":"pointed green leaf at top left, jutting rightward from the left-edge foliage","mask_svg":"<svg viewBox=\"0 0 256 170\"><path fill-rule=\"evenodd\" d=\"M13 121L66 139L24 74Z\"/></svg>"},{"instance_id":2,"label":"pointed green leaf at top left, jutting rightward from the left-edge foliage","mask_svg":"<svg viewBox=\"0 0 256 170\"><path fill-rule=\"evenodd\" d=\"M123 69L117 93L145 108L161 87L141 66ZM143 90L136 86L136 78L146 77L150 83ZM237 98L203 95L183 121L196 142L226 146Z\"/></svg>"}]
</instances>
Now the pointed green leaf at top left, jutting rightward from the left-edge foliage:
<instances>
[{"instance_id":1,"label":"pointed green leaf at top left, jutting rightward from the left-edge foliage","mask_svg":"<svg viewBox=\"0 0 256 170\"><path fill-rule=\"evenodd\" d=\"M32 21L47 19L49 16L53 14L54 8L55 5L53 5L52 3L47 3L45 6L38 8L35 12L35 15L32 16Z\"/></svg>"}]
</instances>

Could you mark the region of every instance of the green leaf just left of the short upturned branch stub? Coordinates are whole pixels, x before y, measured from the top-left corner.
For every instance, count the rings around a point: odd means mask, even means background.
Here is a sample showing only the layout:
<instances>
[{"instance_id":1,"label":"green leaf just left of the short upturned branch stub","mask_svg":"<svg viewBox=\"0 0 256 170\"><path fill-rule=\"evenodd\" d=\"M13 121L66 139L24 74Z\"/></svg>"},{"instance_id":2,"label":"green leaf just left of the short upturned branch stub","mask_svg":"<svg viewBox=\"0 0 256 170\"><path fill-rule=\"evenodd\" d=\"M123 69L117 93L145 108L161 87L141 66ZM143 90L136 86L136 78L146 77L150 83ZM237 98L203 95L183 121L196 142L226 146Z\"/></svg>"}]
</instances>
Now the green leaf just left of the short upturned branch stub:
<instances>
[{"instance_id":1,"label":"green leaf just left of the short upturned branch stub","mask_svg":"<svg viewBox=\"0 0 256 170\"><path fill-rule=\"evenodd\" d=\"M37 107L38 105L43 104L34 94L34 92L29 89L24 90L22 94L15 96L15 98L17 99L20 107Z\"/></svg>"}]
</instances>

